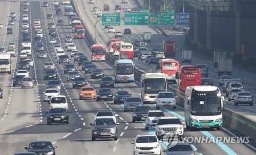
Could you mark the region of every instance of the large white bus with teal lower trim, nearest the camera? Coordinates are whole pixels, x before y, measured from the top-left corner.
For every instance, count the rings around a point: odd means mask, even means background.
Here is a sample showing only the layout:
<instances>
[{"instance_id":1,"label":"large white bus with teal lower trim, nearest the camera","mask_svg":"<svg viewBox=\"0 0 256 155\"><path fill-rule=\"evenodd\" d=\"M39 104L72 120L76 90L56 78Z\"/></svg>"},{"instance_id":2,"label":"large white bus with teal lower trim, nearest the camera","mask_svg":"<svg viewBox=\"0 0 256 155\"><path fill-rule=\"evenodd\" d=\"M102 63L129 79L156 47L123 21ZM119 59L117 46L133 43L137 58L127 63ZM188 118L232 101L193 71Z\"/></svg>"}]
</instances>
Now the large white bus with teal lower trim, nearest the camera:
<instances>
[{"instance_id":1,"label":"large white bus with teal lower trim, nearest the camera","mask_svg":"<svg viewBox=\"0 0 256 155\"><path fill-rule=\"evenodd\" d=\"M217 86L188 86L185 91L184 112L187 129L222 126L224 96Z\"/></svg>"}]
</instances>

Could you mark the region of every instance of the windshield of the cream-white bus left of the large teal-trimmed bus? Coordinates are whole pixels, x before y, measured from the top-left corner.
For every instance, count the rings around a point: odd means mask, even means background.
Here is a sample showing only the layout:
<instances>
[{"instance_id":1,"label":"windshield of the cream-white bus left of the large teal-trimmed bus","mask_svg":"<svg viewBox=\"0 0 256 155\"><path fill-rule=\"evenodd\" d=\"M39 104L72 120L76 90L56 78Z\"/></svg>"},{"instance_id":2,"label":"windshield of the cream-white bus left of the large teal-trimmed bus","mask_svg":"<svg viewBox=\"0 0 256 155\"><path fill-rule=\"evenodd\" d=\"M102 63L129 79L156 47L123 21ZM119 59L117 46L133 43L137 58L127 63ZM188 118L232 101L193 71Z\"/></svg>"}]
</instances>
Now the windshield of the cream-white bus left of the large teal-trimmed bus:
<instances>
[{"instance_id":1,"label":"windshield of the cream-white bus left of the large teal-trimmed bus","mask_svg":"<svg viewBox=\"0 0 256 155\"><path fill-rule=\"evenodd\" d=\"M145 94L157 94L158 92L166 92L165 78L145 79Z\"/></svg>"}]
</instances>

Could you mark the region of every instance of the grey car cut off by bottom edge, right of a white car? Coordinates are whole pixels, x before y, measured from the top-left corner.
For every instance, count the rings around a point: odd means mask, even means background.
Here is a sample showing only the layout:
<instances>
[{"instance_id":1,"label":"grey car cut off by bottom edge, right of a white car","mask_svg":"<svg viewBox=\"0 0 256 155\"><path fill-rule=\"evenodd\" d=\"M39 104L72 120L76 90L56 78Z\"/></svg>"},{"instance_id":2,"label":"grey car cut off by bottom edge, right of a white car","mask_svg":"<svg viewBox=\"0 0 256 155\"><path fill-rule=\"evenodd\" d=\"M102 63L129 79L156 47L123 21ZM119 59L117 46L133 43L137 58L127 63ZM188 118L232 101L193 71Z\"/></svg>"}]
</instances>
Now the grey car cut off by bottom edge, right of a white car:
<instances>
[{"instance_id":1,"label":"grey car cut off by bottom edge, right of a white car","mask_svg":"<svg viewBox=\"0 0 256 155\"><path fill-rule=\"evenodd\" d=\"M191 145L186 141L178 141L177 143L170 143L163 149L164 155L168 154L196 154L197 149L195 147L191 147Z\"/></svg>"}]
</instances>

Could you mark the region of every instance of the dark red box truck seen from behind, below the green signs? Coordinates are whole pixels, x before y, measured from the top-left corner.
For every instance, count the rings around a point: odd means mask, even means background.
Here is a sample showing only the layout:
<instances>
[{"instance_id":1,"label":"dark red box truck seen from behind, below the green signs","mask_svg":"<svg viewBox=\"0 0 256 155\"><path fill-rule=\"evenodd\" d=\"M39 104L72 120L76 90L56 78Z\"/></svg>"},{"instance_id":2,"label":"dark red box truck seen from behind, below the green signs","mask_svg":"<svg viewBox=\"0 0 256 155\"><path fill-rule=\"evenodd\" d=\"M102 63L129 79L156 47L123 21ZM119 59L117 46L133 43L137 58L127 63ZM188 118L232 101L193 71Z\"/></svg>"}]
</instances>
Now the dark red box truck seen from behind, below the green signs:
<instances>
[{"instance_id":1,"label":"dark red box truck seen from behind, below the green signs","mask_svg":"<svg viewBox=\"0 0 256 155\"><path fill-rule=\"evenodd\" d=\"M163 52L166 57L175 57L176 41L163 40Z\"/></svg>"}]
</instances>

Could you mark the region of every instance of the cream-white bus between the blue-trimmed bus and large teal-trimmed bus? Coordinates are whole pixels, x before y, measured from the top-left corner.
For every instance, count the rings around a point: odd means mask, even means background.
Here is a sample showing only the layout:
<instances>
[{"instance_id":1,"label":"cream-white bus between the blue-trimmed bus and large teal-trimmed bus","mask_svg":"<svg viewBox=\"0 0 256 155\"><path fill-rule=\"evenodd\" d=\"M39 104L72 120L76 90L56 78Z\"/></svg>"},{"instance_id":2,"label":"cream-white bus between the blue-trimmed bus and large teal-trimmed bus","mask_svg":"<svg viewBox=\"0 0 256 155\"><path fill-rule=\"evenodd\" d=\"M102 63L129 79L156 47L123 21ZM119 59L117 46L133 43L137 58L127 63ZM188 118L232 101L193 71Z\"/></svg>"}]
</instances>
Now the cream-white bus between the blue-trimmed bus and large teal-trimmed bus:
<instances>
[{"instance_id":1,"label":"cream-white bus between the blue-trimmed bus and large teal-trimmed bus","mask_svg":"<svg viewBox=\"0 0 256 155\"><path fill-rule=\"evenodd\" d=\"M145 73L140 77L141 100L144 103L156 103L159 92L166 92L168 83L162 73Z\"/></svg>"}]
</instances>

